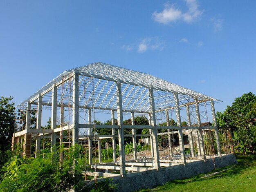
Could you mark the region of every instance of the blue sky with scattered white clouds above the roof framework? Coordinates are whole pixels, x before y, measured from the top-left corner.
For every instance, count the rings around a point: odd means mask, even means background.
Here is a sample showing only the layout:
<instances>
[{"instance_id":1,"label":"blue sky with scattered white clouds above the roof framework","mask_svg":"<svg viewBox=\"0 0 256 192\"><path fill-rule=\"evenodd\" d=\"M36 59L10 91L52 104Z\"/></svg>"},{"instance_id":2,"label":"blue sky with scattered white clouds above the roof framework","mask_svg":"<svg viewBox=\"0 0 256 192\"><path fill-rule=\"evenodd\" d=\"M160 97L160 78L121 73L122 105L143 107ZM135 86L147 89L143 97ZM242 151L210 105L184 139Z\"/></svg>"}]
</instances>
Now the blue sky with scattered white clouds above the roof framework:
<instances>
[{"instance_id":1,"label":"blue sky with scattered white clouds above the roof framework","mask_svg":"<svg viewBox=\"0 0 256 192\"><path fill-rule=\"evenodd\" d=\"M212 96L256 94L256 1L0 1L0 95L96 61Z\"/></svg>"}]
</instances>

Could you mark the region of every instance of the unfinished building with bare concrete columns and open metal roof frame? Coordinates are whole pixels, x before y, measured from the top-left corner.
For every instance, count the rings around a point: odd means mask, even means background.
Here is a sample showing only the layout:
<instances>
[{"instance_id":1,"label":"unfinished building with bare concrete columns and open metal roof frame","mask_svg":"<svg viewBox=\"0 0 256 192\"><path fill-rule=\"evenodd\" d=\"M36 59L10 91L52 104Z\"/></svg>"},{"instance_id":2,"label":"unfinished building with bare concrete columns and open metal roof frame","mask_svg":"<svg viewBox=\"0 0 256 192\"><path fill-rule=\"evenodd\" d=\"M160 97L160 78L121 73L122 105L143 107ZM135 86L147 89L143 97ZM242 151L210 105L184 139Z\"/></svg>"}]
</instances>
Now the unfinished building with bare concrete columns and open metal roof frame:
<instances>
[{"instance_id":1,"label":"unfinished building with bare concrete columns and open metal roof frame","mask_svg":"<svg viewBox=\"0 0 256 192\"><path fill-rule=\"evenodd\" d=\"M22 155L38 156L46 138L50 139L52 150L58 145L65 150L81 143L88 154L85 163L95 168L86 175L94 176L94 180L111 177L121 183L122 191L137 190L236 162L230 130L216 127L214 104L218 102L149 74L92 63L64 71L18 105L20 123L18 132L13 134L12 148L20 144ZM109 114L112 125L95 124L94 120L103 113ZM42 116L47 115L51 116L51 129L42 127ZM148 118L148 125L135 125L135 116ZM124 117L131 118L131 125L124 125ZM171 119L177 125L170 125ZM201 121L213 124L202 126ZM102 128L112 130L112 134L97 134L95 129ZM124 134L124 129L131 129L131 134ZM141 134L139 129L149 132ZM184 141L184 135L188 141ZM166 136L166 146L159 145L161 136ZM133 143L133 157L129 161L125 158L125 137ZM136 150L141 137L149 138L151 148L150 157L142 159ZM106 138L112 139L112 163L101 161L101 141ZM36 143L34 152L32 141ZM97 161L93 161L95 147ZM161 156L162 150L167 154ZM59 154L61 161L63 153ZM135 186L131 187L129 182Z\"/></svg>"}]
</instances>

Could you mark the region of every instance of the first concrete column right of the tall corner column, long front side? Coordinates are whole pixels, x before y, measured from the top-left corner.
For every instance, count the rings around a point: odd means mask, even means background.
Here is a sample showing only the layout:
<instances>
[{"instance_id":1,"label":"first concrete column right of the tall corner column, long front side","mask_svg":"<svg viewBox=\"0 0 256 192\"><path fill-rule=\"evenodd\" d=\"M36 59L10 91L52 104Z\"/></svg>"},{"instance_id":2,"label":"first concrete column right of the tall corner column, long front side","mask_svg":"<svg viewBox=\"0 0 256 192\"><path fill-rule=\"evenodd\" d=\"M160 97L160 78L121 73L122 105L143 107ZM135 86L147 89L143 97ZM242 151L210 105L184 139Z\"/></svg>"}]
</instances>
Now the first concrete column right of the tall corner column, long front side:
<instances>
[{"instance_id":1,"label":"first concrete column right of the tall corner column, long front side","mask_svg":"<svg viewBox=\"0 0 256 192\"><path fill-rule=\"evenodd\" d=\"M120 159L120 174L125 177L125 153L124 153L124 128L123 125L123 106L122 106L122 89L121 83L117 82L117 121L120 126L118 129L119 140L119 159Z\"/></svg>"}]
</instances>

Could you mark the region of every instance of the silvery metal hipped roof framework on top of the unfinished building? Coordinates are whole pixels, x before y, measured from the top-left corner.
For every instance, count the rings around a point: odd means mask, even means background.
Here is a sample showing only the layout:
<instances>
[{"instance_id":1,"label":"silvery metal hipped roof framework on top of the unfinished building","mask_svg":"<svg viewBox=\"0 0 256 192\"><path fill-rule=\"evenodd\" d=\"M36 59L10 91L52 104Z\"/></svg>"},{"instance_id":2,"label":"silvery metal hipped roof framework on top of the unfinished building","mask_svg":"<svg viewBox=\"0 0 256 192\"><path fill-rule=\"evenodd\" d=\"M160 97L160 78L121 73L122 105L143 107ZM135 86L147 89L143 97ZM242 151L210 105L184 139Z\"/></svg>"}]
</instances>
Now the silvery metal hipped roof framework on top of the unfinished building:
<instances>
[{"instance_id":1,"label":"silvery metal hipped roof framework on top of the unfinished building","mask_svg":"<svg viewBox=\"0 0 256 192\"><path fill-rule=\"evenodd\" d=\"M150 110L148 88L154 90L156 112L175 109L174 93L178 93L181 109L185 108L186 105L193 105L195 99L198 100L199 105L201 105L200 103L209 104L211 100L214 103L221 102L218 99L149 74L97 62L64 71L20 103L18 107L26 106L27 101L33 104L37 100L38 94L41 94L44 105L50 109L51 91L54 84L57 86L58 104L63 102L67 105L70 100L72 102L72 94L70 94L69 100L63 100L63 98L68 98L67 94L72 92L72 88L70 88L72 82L69 80L70 73L79 74L79 106L81 108L83 108L82 106L92 106L93 97L94 109L97 109L98 112L108 113L110 110L117 109L116 82L121 83L124 112L148 113ZM63 89L64 92L61 93Z\"/></svg>"}]
</instances>

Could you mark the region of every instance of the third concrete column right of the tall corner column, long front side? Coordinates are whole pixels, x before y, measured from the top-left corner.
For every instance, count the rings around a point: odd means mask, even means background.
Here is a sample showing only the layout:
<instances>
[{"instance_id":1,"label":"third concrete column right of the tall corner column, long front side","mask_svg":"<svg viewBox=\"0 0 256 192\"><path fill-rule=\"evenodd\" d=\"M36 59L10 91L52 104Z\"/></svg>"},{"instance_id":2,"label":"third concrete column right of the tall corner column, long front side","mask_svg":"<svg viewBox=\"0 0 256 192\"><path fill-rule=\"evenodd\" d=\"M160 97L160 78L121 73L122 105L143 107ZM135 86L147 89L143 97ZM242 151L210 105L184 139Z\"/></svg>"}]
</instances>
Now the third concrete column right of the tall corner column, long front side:
<instances>
[{"instance_id":1,"label":"third concrete column right of the tall corner column, long front side","mask_svg":"<svg viewBox=\"0 0 256 192\"><path fill-rule=\"evenodd\" d=\"M182 133L182 126L181 126L181 117L180 117L180 103L179 103L179 96L178 93L174 93L174 100L175 100L175 108L176 108L176 118L177 118L177 126L180 127L178 130L179 134L179 143L180 143L180 155L183 164L186 163L186 156L185 156L185 149L184 149L184 141L183 141L183 133Z\"/></svg>"}]
</instances>

